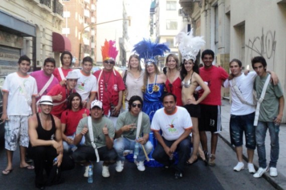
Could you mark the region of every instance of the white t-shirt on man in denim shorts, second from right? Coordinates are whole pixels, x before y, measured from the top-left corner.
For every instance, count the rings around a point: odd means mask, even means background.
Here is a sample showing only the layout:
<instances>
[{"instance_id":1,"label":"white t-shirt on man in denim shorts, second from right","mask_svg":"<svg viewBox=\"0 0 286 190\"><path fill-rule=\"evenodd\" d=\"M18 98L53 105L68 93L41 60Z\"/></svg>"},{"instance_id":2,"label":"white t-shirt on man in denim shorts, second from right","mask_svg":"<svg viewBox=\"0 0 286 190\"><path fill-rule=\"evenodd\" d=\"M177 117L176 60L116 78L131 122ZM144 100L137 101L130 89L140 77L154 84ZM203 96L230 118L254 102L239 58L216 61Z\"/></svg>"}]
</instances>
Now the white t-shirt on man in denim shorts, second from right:
<instances>
[{"instance_id":1,"label":"white t-shirt on man in denim shorts, second from right","mask_svg":"<svg viewBox=\"0 0 286 190\"><path fill-rule=\"evenodd\" d=\"M253 103L253 84L255 77L257 76L256 72L251 71L247 75L241 73L240 76L236 78L236 86L240 90L243 98L249 102ZM236 95L233 87L232 80L225 80L223 83L224 87L230 87L232 94L232 104L230 113L234 115L247 115L255 111L255 106L251 106L245 103L242 103L238 96Z\"/></svg>"}]
</instances>

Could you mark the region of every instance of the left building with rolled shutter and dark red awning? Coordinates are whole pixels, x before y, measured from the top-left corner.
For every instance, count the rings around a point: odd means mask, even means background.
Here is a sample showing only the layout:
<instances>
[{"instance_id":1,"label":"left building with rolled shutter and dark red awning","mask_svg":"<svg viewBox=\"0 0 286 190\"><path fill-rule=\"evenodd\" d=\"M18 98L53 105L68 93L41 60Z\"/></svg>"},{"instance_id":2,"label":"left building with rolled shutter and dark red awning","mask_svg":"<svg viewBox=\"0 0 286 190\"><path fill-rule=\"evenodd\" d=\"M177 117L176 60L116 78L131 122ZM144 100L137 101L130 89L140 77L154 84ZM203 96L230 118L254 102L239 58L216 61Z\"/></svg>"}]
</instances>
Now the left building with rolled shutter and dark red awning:
<instances>
[{"instance_id":1,"label":"left building with rolled shutter and dark red awning","mask_svg":"<svg viewBox=\"0 0 286 190\"><path fill-rule=\"evenodd\" d=\"M45 58L70 50L62 36L63 6L59 0L1 0L0 74L18 70L18 59L27 54L33 69L41 69Z\"/></svg>"}]
</instances>

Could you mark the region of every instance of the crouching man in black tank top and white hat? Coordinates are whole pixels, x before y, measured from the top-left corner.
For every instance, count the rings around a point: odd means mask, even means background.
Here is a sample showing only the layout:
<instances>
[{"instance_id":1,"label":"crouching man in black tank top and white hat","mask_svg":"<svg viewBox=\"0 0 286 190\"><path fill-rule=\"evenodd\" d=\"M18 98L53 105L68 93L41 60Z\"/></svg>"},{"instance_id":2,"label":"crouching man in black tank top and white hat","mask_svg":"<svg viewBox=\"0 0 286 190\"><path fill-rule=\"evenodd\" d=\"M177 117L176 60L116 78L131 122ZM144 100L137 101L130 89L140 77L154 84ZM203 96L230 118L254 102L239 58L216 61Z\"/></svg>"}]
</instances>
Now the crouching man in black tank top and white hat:
<instances>
[{"instance_id":1,"label":"crouching man in black tank top and white hat","mask_svg":"<svg viewBox=\"0 0 286 190\"><path fill-rule=\"evenodd\" d=\"M74 162L69 156L63 156L61 121L51 114L52 97L43 95L40 107L41 112L33 114L28 120L30 137L28 154L35 164L35 184L39 188L44 188L45 185L62 182L60 179L58 181L48 179L50 183L45 183L44 168L48 178L53 178L51 172L53 165L67 170L74 167Z\"/></svg>"}]
</instances>

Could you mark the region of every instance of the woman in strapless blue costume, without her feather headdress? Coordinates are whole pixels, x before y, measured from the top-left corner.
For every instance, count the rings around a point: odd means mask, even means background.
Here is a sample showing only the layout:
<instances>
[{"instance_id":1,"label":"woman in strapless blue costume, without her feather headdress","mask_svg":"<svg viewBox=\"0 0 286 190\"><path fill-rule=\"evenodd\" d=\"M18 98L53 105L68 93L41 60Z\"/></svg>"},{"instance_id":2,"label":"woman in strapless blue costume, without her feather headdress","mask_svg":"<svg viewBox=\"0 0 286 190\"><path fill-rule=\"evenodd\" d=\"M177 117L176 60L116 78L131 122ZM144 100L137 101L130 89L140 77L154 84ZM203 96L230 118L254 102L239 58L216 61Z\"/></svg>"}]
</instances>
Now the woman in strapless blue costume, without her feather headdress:
<instances>
[{"instance_id":1,"label":"woman in strapless blue costume, without her feather headdress","mask_svg":"<svg viewBox=\"0 0 286 190\"><path fill-rule=\"evenodd\" d=\"M154 62L146 65L144 86L142 87L144 92L142 111L149 115L151 122L154 113L163 107L162 96L164 93L166 80L167 76L160 73L157 65Z\"/></svg>"}]
</instances>

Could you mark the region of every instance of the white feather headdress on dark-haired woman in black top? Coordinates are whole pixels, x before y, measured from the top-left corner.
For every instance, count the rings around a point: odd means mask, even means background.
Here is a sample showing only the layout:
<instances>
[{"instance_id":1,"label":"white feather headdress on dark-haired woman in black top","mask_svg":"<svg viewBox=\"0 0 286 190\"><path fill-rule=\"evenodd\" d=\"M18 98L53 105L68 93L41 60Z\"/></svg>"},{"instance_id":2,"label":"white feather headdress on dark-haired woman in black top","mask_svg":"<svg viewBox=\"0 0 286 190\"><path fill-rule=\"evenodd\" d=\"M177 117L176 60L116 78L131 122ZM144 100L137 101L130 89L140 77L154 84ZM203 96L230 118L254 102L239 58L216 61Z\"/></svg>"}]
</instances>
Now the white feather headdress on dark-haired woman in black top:
<instances>
[{"instance_id":1,"label":"white feather headdress on dark-haired woman in black top","mask_svg":"<svg viewBox=\"0 0 286 190\"><path fill-rule=\"evenodd\" d=\"M202 45L205 44L203 36L193 36L193 28L189 33L180 32L177 36L179 50L184 59L196 61L196 56L199 53Z\"/></svg>"}]
</instances>

